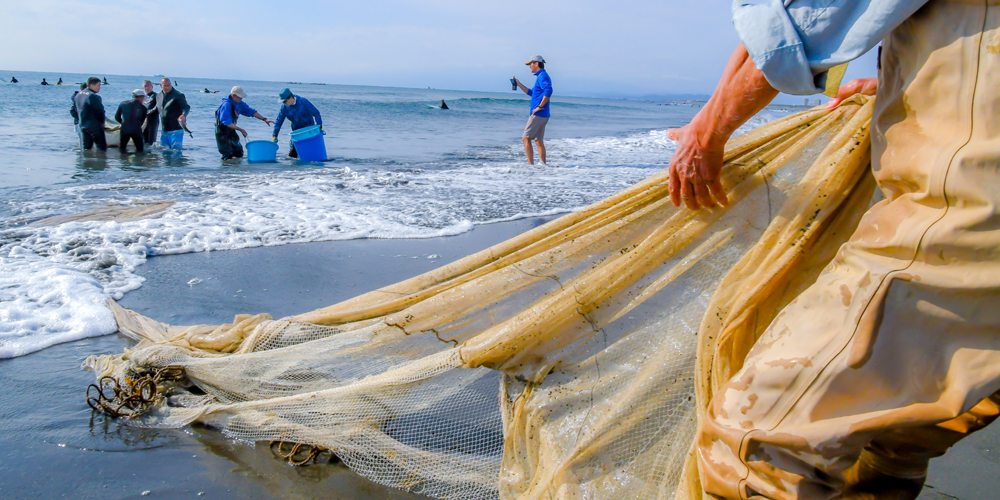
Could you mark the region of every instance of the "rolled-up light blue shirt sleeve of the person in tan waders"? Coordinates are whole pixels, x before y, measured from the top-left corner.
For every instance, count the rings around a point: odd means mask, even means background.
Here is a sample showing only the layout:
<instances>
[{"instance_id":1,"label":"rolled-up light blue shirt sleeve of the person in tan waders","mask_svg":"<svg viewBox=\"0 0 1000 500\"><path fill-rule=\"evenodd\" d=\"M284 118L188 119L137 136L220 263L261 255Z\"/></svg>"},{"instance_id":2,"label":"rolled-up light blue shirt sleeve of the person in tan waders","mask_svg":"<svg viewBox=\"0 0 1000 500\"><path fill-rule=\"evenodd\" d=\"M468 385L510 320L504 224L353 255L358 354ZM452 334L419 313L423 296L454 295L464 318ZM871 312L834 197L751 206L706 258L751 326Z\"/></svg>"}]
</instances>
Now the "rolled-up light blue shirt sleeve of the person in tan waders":
<instances>
[{"instance_id":1,"label":"rolled-up light blue shirt sleeve of the person in tan waders","mask_svg":"<svg viewBox=\"0 0 1000 500\"><path fill-rule=\"evenodd\" d=\"M733 24L757 69L788 93L823 92L826 72L877 45L927 0L734 0Z\"/></svg>"}]
</instances>

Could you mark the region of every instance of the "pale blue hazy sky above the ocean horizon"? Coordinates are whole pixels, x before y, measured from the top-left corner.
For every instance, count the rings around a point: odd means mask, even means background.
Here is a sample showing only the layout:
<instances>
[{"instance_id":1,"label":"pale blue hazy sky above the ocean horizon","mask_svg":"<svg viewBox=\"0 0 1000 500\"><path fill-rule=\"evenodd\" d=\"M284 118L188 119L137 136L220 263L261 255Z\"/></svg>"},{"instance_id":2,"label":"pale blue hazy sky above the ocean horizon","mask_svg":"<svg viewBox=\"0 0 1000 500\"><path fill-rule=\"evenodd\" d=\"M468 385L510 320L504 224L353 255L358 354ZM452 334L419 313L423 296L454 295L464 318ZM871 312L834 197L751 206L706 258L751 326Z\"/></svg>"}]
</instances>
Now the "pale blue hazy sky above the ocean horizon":
<instances>
[{"instance_id":1,"label":"pale blue hazy sky above the ocean horizon","mask_svg":"<svg viewBox=\"0 0 1000 500\"><path fill-rule=\"evenodd\" d=\"M710 94L730 4L0 0L0 68L505 91L541 54L565 94ZM872 54L849 70L874 73Z\"/></svg>"}]
</instances>

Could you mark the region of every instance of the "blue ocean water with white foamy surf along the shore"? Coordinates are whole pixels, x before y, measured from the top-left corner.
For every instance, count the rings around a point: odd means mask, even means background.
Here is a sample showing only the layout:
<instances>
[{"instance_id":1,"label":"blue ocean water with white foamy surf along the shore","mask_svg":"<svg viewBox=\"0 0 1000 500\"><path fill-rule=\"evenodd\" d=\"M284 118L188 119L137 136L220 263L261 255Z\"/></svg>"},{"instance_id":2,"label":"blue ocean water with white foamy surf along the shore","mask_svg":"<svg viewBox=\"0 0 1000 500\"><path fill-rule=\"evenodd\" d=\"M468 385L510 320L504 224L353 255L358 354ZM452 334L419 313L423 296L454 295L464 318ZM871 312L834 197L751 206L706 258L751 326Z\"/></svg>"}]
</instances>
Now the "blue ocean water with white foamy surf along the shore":
<instances>
[{"instance_id":1,"label":"blue ocean water with white foamy surf along the shore","mask_svg":"<svg viewBox=\"0 0 1000 500\"><path fill-rule=\"evenodd\" d=\"M477 225L558 214L614 194L664 168L665 130L692 102L553 98L548 165L530 166L521 92L481 93L179 78L192 110L183 152L80 151L70 98L88 75L0 70L0 358L113 333L104 305L142 286L152 256L357 238L427 238ZM105 75L98 75L104 77ZM44 87L42 77L67 86ZM107 75L109 116L144 78ZM553 74L558 91L558 72ZM530 80L530 75L525 80ZM323 115L330 160L223 163L214 112L233 85L274 118L290 87ZM221 90L218 94L203 89ZM450 110L435 109L445 99ZM765 110L749 126L789 112ZM270 127L241 117L250 140ZM109 206L173 202L127 222L45 219ZM196 286L196 284L192 284ZM165 297L164 300L169 300Z\"/></svg>"}]
</instances>

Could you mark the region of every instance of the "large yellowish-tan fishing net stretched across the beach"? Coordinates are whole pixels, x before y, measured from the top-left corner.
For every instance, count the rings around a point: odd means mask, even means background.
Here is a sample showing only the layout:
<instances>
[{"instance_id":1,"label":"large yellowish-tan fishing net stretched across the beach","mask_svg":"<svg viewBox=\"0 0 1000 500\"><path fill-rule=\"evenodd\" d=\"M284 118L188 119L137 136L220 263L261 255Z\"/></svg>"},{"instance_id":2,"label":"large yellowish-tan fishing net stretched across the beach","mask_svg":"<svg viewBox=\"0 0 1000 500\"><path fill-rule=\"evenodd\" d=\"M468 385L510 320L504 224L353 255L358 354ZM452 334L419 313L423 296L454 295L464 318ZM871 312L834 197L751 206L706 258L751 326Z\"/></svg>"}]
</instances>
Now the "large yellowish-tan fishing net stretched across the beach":
<instances>
[{"instance_id":1,"label":"large yellowish-tan fishing net stretched across the beach","mask_svg":"<svg viewBox=\"0 0 1000 500\"><path fill-rule=\"evenodd\" d=\"M701 409L871 202L872 105L735 137L728 208L674 208L662 172L300 316L178 327L112 303L139 343L87 360L89 401L136 425L329 450L438 498L700 498Z\"/></svg>"}]
</instances>

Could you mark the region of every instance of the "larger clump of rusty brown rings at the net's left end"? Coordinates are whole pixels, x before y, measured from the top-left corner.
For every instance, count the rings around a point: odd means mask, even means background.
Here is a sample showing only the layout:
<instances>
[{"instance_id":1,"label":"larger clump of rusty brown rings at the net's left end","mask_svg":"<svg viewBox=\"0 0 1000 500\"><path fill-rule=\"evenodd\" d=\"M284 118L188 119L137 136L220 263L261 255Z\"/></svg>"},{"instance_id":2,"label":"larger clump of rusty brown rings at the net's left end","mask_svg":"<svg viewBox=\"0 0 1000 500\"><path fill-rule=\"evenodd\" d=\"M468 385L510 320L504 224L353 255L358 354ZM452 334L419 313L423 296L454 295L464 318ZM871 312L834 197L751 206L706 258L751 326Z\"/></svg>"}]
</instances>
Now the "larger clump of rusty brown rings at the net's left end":
<instances>
[{"instance_id":1,"label":"larger clump of rusty brown rings at the net's left end","mask_svg":"<svg viewBox=\"0 0 1000 500\"><path fill-rule=\"evenodd\" d=\"M87 387L87 405L114 418L133 418L142 415L160 400L159 390L164 382L184 378L184 368L165 366L155 372L144 371L127 376L124 384L110 376L101 377ZM90 390L96 391L91 395ZM105 390L111 391L110 396Z\"/></svg>"}]
</instances>

